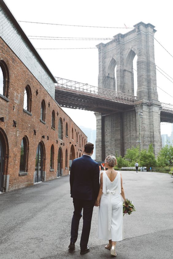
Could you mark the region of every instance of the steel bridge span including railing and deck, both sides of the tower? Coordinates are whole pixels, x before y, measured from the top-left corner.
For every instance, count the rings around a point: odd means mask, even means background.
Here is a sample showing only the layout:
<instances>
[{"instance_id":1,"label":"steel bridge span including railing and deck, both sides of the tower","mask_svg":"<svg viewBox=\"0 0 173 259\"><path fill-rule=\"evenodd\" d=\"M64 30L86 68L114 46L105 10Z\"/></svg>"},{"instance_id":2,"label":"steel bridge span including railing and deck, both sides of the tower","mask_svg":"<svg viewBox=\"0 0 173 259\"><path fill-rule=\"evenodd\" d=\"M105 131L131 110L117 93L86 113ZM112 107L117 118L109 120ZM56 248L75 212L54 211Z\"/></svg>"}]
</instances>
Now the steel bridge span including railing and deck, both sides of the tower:
<instances>
[{"instance_id":1,"label":"steel bridge span including railing and deck, both sides of the tower","mask_svg":"<svg viewBox=\"0 0 173 259\"><path fill-rule=\"evenodd\" d=\"M114 113L135 109L136 96L65 78L55 78L58 82L55 86L55 98L62 107L78 108L103 114L110 114L111 111ZM160 105L161 122L173 122L173 105L170 103L160 103Z\"/></svg>"}]
</instances>

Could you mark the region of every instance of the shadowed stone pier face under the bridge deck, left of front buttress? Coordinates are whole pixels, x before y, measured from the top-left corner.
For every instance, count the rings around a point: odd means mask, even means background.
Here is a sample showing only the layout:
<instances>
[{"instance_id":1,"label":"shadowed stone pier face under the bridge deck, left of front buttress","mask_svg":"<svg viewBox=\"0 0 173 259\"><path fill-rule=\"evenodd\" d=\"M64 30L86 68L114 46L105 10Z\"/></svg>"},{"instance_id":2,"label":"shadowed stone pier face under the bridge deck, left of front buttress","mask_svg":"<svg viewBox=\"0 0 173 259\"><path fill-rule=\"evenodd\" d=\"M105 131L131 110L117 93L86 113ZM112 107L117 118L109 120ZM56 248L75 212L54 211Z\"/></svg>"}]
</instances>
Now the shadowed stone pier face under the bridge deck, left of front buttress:
<instances>
[{"instance_id":1,"label":"shadowed stone pier face under the bridge deck, left of front buttress","mask_svg":"<svg viewBox=\"0 0 173 259\"><path fill-rule=\"evenodd\" d=\"M112 114L95 113L96 160L104 161L106 156L117 152L124 156L127 148L136 145L136 112L135 109Z\"/></svg>"}]
</instances>

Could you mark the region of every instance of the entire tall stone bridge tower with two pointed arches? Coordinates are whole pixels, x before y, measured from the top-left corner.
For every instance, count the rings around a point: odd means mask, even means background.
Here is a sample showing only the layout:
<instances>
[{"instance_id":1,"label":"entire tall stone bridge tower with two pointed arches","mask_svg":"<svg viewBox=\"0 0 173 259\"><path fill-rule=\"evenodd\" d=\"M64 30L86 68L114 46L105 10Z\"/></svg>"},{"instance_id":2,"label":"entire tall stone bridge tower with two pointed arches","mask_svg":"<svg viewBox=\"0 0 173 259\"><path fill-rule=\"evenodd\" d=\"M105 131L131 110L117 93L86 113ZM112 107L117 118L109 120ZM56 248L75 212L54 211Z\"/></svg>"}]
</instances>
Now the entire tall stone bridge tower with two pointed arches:
<instances>
[{"instance_id":1,"label":"entire tall stone bridge tower with two pointed arches","mask_svg":"<svg viewBox=\"0 0 173 259\"><path fill-rule=\"evenodd\" d=\"M155 155L161 148L160 102L156 85L154 59L155 26L140 22L134 29L117 34L110 42L97 45L99 54L98 86L134 95L133 59L137 55L137 97L134 109L103 116L97 120L96 160L115 154L124 156L127 148L139 145L139 113L141 119L141 147L153 144ZM117 85L115 80L115 66Z\"/></svg>"}]
</instances>

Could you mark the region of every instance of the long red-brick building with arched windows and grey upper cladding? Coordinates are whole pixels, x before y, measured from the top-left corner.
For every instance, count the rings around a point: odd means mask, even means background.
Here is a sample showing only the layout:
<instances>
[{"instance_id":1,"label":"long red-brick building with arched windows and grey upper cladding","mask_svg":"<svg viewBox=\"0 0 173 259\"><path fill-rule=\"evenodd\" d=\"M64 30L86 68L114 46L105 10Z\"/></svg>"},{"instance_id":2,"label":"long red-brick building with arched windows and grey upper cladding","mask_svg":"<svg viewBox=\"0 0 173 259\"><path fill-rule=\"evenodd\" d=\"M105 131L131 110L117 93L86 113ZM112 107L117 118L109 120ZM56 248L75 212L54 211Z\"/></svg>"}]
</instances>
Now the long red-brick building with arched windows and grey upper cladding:
<instances>
[{"instance_id":1,"label":"long red-brick building with arched windows and grey upper cladding","mask_svg":"<svg viewBox=\"0 0 173 259\"><path fill-rule=\"evenodd\" d=\"M69 174L87 136L55 101L56 80L0 6L0 192Z\"/></svg>"}]
</instances>

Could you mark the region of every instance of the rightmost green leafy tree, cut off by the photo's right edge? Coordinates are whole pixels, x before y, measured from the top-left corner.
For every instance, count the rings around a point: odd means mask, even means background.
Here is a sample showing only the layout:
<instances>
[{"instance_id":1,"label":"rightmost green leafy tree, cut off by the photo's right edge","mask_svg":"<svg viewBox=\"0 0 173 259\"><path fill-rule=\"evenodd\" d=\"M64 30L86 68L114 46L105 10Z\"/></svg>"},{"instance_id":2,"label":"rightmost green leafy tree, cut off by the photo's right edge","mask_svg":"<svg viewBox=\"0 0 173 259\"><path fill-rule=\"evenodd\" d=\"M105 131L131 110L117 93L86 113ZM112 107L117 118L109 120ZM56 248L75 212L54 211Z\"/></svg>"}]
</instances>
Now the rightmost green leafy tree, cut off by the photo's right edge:
<instances>
[{"instance_id":1,"label":"rightmost green leafy tree, cut off by the photo's right edge","mask_svg":"<svg viewBox=\"0 0 173 259\"><path fill-rule=\"evenodd\" d=\"M157 157L158 166L172 166L173 165L173 146L165 145L159 152Z\"/></svg>"}]
</instances>

